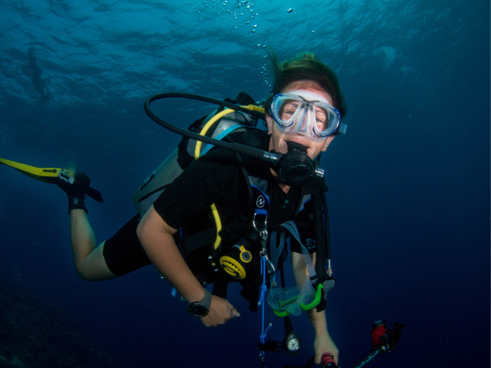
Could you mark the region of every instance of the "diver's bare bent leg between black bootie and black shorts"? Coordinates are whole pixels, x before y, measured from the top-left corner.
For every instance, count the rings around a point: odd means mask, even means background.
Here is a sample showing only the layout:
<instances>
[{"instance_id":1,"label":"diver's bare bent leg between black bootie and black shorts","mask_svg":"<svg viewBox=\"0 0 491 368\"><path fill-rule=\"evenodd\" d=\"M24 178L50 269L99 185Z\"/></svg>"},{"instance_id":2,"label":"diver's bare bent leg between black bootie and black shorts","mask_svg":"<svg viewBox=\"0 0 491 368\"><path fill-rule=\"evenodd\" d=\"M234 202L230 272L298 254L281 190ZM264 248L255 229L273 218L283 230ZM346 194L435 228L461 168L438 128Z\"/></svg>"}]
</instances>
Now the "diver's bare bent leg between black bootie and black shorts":
<instances>
[{"instance_id":1,"label":"diver's bare bent leg between black bootie and black shorts","mask_svg":"<svg viewBox=\"0 0 491 368\"><path fill-rule=\"evenodd\" d=\"M87 213L82 209L70 211L70 241L75 269L83 280L99 281L117 277L104 260L104 242L96 240Z\"/></svg>"}]
</instances>

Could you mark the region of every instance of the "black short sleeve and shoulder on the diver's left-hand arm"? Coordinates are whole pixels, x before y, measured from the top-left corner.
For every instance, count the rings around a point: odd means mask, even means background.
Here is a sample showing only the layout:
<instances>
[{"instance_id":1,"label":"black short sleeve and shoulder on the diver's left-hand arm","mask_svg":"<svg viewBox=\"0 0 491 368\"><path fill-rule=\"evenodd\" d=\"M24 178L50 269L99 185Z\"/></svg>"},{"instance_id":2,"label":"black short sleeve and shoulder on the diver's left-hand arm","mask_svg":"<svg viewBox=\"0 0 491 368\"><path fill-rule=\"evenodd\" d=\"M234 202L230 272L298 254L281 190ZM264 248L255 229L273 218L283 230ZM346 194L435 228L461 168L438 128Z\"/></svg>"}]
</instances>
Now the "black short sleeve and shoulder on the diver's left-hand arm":
<instances>
[{"instance_id":1,"label":"black short sleeve and shoulder on the diver's left-hand arm","mask_svg":"<svg viewBox=\"0 0 491 368\"><path fill-rule=\"evenodd\" d=\"M226 219L244 205L246 181L235 154L215 149L192 162L153 203L162 219L178 229L215 203Z\"/></svg>"}]
</instances>

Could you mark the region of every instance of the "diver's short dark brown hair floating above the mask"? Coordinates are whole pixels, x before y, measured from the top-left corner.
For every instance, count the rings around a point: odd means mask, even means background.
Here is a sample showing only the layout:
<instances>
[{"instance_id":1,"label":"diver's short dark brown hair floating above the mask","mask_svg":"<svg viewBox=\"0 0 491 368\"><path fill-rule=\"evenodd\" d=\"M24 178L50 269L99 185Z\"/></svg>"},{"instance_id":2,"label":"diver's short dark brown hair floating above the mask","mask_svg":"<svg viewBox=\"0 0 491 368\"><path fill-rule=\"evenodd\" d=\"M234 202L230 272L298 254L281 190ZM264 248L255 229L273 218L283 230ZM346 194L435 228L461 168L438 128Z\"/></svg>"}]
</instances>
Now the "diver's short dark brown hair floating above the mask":
<instances>
[{"instance_id":1,"label":"diver's short dark brown hair floating above the mask","mask_svg":"<svg viewBox=\"0 0 491 368\"><path fill-rule=\"evenodd\" d=\"M282 63L278 61L278 57L273 50L269 52L270 60L273 64L273 95L267 100L266 112L269 113L273 96L281 93L288 85L306 81L318 84L324 92L332 99L332 105L339 110L341 118L346 115L348 106L344 100L344 96L339 88L339 82L336 74L320 61L314 53L299 53L292 59L285 60Z\"/></svg>"}]
</instances>

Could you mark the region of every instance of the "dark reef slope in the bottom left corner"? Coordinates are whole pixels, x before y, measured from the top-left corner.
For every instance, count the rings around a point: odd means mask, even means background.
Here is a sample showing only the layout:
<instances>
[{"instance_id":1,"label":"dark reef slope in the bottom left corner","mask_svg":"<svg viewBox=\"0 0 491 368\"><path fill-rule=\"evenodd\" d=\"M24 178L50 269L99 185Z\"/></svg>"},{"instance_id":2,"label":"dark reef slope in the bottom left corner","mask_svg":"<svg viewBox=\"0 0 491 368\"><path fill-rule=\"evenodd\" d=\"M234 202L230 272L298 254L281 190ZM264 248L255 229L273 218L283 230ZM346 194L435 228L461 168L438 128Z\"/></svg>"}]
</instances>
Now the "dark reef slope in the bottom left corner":
<instances>
[{"instance_id":1,"label":"dark reef slope in the bottom left corner","mask_svg":"<svg viewBox=\"0 0 491 368\"><path fill-rule=\"evenodd\" d=\"M1 368L116 368L70 317L0 279Z\"/></svg>"}]
</instances>

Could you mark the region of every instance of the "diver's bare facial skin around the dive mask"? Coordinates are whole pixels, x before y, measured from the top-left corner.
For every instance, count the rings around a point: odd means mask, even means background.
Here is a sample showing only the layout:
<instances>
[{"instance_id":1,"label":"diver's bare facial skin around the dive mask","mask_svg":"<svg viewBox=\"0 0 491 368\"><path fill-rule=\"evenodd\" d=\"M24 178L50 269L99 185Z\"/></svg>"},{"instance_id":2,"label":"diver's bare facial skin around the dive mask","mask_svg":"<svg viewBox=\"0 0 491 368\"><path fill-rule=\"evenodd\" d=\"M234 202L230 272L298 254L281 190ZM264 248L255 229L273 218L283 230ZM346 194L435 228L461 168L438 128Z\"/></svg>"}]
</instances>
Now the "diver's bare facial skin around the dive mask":
<instances>
[{"instance_id":1,"label":"diver's bare facial skin around the dive mask","mask_svg":"<svg viewBox=\"0 0 491 368\"><path fill-rule=\"evenodd\" d=\"M326 92L324 92L321 89L321 87L316 83L312 83L312 82L309 83L307 81L294 82L292 84L289 84L284 90L281 91L281 93L288 93L290 91L295 91L294 93L300 96L301 96L301 91L306 91L307 93L315 93L324 97L327 103L329 105L332 105L331 97ZM306 100L310 100L310 98L306 98ZM291 131L288 133L279 131L276 122L274 121L273 117L270 115L266 115L266 122L268 123L268 134L271 135L270 147L269 147L270 151L274 150L280 153L287 153L288 147L286 145L286 142L293 141L306 146L307 155L310 158L314 159L321 152L327 150L327 146L329 145L329 143L331 143L332 139L334 138L334 135L329 135L325 139L314 140L314 139L309 139L305 135L300 135L295 131Z\"/></svg>"}]
</instances>

